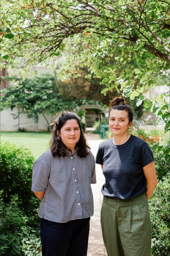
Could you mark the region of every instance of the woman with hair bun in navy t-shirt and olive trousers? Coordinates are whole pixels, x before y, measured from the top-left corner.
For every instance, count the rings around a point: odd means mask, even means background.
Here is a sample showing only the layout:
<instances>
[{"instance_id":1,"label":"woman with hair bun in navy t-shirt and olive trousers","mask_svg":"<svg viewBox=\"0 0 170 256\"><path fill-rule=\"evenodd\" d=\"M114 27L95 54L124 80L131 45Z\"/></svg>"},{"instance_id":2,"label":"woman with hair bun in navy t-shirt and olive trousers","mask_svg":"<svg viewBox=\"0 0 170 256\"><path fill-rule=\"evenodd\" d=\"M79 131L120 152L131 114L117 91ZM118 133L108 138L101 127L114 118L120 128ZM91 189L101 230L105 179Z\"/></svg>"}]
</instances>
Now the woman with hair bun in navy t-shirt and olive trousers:
<instances>
[{"instance_id":1,"label":"woman with hair bun in navy t-shirt and olive trousers","mask_svg":"<svg viewBox=\"0 0 170 256\"><path fill-rule=\"evenodd\" d=\"M151 256L148 200L158 181L149 145L128 133L132 121L123 98L110 101L113 138L100 143L96 156L106 179L101 228L108 256Z\"/></svg>"}]
</instances>

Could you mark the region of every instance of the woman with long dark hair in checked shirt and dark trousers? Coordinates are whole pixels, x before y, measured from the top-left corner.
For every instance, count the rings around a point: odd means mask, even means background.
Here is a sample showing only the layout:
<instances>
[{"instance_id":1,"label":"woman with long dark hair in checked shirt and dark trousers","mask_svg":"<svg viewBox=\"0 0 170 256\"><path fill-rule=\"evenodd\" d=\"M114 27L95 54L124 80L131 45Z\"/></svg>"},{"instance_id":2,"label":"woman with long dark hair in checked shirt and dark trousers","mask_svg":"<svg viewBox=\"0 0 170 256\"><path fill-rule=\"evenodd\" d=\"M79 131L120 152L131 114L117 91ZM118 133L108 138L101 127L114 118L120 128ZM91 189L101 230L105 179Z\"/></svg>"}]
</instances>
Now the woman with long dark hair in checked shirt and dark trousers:
<instances>
[{"instance_id":1,"label":"woman with long dark hair in checked shirt and dark trousers","mask_svg":"<svg viewBox=\"0 0 170 256\"><path fill-rule=\"evenodd\" d=\"M40 199L42 256L86 256L93 215L94 156L80 117L64 111L52 129L50 149L33 164L32 191Z\"/></svg>"}]
</instances>

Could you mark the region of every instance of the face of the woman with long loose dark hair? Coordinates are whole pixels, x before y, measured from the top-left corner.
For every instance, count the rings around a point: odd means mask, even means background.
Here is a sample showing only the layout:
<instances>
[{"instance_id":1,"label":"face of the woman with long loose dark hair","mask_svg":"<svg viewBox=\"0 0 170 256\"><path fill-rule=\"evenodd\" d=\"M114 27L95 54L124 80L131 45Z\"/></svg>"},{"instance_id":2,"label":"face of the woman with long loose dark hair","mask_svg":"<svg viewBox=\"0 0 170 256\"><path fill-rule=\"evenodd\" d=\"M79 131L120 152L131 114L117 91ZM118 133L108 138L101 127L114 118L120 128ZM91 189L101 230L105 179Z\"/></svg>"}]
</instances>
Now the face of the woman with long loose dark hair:
<instances>
[{"instance_id":1,"label":"face of the woman with long loose dark hair","mask_svg":"<svg viewBox=\"0 0 170 256\"><path fill-rule=\"evenodd\" d=\"M76 143L80 139L80 128L77 120L68 120L61 128L60 133L57 131L57 135L61 137L64 145L69 148L75 148Z\"/></svg>"}]
</instances>

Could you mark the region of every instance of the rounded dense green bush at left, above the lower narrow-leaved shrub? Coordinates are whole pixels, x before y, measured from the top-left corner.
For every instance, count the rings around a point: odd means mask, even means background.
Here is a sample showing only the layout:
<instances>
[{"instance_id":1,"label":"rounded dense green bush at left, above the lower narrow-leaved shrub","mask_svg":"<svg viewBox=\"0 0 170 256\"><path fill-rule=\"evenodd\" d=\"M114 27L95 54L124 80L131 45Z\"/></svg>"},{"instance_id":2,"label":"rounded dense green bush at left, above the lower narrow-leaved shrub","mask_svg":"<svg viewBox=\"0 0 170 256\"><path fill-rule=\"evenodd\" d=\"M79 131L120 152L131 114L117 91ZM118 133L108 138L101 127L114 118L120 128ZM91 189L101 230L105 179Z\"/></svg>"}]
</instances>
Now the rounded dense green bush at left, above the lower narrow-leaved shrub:
<instances>
[{"instance_id":1,"label":"rounded dense green bush at left, above the lower narrow-leaved shrub","mask_svg":"<svg viewBox=\"0 0 170 256\"><path fill-rule=\"evenodd\" d=\"M40 200L31 191L34 161L28 149L9 142L1 142L0 200L7 204L11 195L18 194L21 210L26 214L36 214L40 205Z\"/></svg>"}]
</instances>

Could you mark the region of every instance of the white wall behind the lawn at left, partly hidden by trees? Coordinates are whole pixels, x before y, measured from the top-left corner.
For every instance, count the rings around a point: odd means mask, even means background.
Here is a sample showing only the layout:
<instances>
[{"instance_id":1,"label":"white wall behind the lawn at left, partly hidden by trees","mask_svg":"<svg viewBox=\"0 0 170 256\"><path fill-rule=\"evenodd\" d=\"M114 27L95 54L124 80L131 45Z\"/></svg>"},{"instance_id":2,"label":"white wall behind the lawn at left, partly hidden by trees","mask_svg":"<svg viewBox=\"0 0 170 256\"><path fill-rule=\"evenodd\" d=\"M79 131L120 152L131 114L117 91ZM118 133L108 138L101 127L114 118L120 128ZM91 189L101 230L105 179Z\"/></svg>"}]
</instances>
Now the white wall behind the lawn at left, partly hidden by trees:
<instances>
[{"instance_id":1,"label":"white wall behind the lawn at left, partly hidden by trees","mask_svg":"<svg viewBox=\"0 0 170 256\"><path fill-rule=\"evenodd\" d=\"M22 111L22 107L19 107L19 111ZM13 115L12 115L13 114ZM50 124L54 119L55 116L47 115L45 117L48 120L48 124ZM1 120L1 131L4 132L17 132L18 131L18 118L13 118L18 116L18 107L14 107L13 110L10 108L4 109L0 112L0 120ZM27 115L21 113L19 115L19 127L22 129L24 128L26 132L36 132L37 124L35 124L33 118L27 118ZM48 125L47 121L45 120L44 116L41 114L39 116L38 122L38 132L48 132Z\"/></svg>"}]
</instances>

